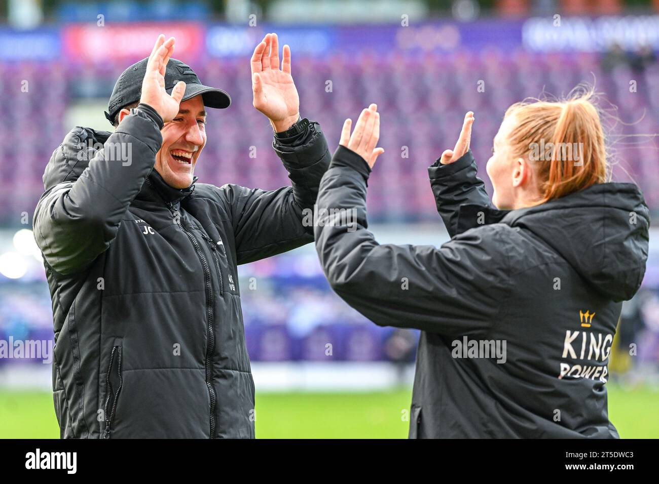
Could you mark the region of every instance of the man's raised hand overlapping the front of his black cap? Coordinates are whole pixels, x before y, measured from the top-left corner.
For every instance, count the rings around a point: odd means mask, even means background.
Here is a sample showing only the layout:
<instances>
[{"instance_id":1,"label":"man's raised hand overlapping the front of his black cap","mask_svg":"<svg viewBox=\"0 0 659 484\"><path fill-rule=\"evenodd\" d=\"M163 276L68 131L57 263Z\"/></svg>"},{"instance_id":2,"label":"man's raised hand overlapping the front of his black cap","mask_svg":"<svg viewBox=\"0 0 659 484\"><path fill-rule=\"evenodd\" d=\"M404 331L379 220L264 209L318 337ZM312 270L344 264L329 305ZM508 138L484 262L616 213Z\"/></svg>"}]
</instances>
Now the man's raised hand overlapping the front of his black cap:
<instances>
[{"instance_id":1,"label":"man's raised hand overlapping the front of his black cap","mask_svg":"<svg viewBox=\"0 0 659 484\"><path fill-rule=\"evenodd\" d=\"M165 36L160 34L156 45L151 51L146 64L146 74L142 81L142 97L140 103L150 105L156 109L164 122L169 122L179 113L179 104L185 94L185 82L179 81L171 92L165 91L165 70L167 62L174 52L174 38L165 41Z\"/></svg>"}]
</instances>

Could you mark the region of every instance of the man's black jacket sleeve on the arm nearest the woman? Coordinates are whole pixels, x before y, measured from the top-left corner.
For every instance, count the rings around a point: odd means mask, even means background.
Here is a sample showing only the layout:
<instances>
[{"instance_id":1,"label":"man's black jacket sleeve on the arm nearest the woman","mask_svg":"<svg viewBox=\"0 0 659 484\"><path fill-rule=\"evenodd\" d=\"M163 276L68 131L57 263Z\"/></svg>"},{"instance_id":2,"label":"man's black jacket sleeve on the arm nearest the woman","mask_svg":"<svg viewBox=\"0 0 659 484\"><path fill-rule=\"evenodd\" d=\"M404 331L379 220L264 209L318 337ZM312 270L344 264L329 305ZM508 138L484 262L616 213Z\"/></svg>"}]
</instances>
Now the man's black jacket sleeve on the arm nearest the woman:
<instances>
[{"instance_id":1,"label":"man's black jacket sleeve on the arm nearest the woman","mask_svg":"<svg viewBox=\"0 0 659 484\"><path fill-rule=\"evenodd\" d=\"M287 252L314 240L313 211L318 185L331 155L317 122L296 140L275 137L273 148L289 173L291 186L259 190L228 184L237 263L244 264Z\"/></svg>"}]
</instances>

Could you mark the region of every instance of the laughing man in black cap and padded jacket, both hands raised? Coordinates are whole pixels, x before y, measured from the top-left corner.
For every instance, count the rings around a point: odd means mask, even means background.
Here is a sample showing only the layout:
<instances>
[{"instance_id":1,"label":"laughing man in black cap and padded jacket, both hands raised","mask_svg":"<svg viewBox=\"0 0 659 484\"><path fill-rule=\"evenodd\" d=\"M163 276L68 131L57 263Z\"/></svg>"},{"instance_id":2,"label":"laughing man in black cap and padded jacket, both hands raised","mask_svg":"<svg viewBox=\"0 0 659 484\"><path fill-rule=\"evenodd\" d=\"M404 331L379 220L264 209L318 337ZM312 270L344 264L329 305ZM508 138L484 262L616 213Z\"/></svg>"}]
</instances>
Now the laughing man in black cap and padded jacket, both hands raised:
<instances>
[{"instance_id":1,"label":"laughing man in black cap and padded jacket, both hands raised","mask_svg":"<svg viewBox=\"0 0 659 484\"><path fill-rule=\"evenodd\" d=\"M265 191L196 183L204 107L231 99L171 59L174 42L159 36L117 80L115 132L75 128L43 175L61 437L254 437L237 265L313 240L303 221L330 156L299 118L289 47L281 68L275 34L252 57L254 107L291 179Z\"/></svg>"}]
</instances>

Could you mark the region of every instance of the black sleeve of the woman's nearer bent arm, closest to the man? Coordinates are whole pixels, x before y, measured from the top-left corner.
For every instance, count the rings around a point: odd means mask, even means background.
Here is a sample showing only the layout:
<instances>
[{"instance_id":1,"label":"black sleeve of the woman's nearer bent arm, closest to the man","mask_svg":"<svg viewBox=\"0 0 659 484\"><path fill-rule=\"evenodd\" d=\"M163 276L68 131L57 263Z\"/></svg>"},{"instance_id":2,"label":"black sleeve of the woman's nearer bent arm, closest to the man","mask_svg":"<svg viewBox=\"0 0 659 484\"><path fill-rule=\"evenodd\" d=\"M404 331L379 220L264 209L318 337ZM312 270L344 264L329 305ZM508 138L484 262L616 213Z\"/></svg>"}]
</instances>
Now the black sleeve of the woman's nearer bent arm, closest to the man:
<instances>
[{"instance_id":1,"label":"black sleeve of the woman's nearer bent arm, closest to the man","mask_svg":"<svg viewBox=\"0 0 659 484\"><path fill-rule=\"evenodd\" d=\"M339 147L318 196L316 250L331 287L382 326L441 335L486 331L509 287L501 226L469 230L444 244L378 244L367 230L368 165ZM356 224L337 223L353 213Z\"/></svg>"}]
</instances>

